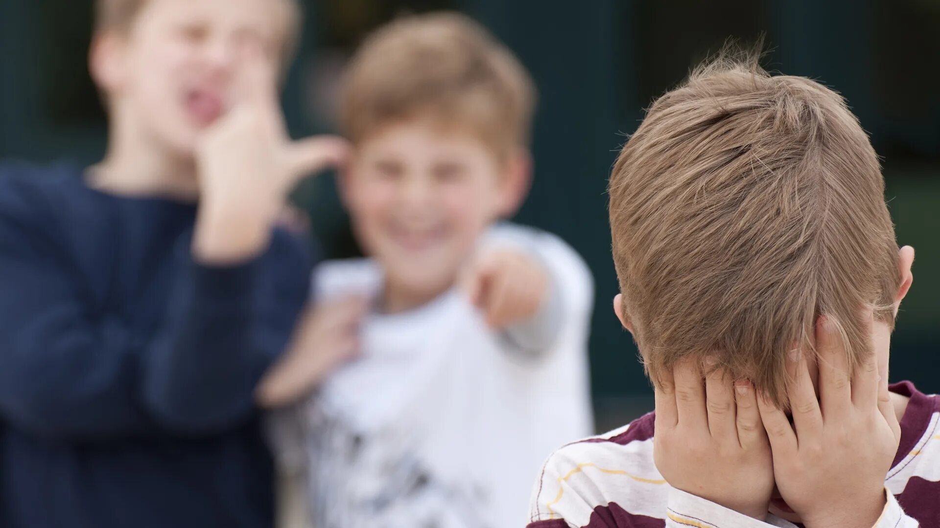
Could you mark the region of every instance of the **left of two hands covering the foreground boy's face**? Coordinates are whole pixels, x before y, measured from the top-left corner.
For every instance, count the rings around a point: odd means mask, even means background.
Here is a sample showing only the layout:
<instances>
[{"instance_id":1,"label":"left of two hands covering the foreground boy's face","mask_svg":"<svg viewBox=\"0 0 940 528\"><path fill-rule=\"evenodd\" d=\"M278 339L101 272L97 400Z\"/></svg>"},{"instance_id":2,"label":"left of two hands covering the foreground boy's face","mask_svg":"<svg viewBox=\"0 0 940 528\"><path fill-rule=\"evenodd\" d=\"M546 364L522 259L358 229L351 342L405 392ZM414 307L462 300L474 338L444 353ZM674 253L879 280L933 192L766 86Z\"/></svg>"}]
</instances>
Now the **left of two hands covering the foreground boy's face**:
<instances>
[{"instance_id":1,"label":"left of two hands covering the foreground boy's face","mask_svg":"<svg viewBox=\"0 0 940 528\"><path fill-rule=\"evenodd\" d=\"M656 469L676 489L764 520L774 490L757 396L746 381L716 370L702 381L682 360L656 384Z\"/></svg>"}]
</instances>

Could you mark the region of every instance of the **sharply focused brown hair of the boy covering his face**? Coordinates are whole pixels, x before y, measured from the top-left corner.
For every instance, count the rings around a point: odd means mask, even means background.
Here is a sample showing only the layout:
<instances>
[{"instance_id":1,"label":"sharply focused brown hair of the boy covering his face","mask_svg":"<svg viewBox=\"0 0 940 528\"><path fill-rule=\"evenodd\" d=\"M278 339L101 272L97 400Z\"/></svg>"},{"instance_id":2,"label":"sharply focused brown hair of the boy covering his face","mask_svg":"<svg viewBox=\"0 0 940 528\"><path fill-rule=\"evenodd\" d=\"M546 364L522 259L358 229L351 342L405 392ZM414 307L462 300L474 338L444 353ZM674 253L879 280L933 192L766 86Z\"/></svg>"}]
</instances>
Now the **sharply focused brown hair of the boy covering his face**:
<instances>
[{"instance_id":1,"label":"sharply focused brown hair of the boy covering his face","mask_svg":"<svg viewBox=\"0 0 940 528\"><path fill-rule=\"evenodd\" d=\"M693 357L783 406L787 354L819 315L856 365L863 310L894 324L884 187L845 101L756 56L725 54L655 101L610 180L624 313L650 377Z\"/></svg>"}]
</instances>

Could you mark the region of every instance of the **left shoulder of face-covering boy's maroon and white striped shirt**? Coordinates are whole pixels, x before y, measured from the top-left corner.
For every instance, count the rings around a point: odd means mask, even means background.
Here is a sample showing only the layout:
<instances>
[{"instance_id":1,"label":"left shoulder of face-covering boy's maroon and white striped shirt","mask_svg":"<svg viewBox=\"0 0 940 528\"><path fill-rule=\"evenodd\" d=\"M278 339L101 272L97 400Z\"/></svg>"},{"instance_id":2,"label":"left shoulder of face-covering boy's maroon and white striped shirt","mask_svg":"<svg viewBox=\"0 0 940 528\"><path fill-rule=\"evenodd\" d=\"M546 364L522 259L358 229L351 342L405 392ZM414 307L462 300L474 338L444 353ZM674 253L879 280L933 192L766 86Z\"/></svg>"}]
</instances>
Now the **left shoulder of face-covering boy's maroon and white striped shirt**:
<instances>
[{"instance_id":1,"label":"left shoulder of face-covering boy's maroon and white striped shirt","mask_svg":"<svg viewBox=\"0 0 940 528\"><path fill-rule=\"evenodd\" d=\"M629 425L558 448L532 492L530 528L662 526L668 485L652 456L650 412ZM604 526L608 524L603 524Z\"/></svg>"}]
</instances>

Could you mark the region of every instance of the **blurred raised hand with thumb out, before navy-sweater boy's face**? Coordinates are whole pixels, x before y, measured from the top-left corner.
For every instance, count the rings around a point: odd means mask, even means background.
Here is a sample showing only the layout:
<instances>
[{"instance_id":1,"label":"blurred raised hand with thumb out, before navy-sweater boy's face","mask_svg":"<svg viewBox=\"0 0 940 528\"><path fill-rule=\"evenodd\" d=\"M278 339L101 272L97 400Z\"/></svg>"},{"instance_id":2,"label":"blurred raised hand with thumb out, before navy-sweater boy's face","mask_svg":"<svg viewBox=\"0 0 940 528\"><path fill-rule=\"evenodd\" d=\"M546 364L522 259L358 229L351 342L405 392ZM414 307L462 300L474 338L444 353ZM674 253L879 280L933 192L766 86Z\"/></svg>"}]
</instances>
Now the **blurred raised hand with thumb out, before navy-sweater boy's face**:
<instances>
[{"instance_id":1,"label":"blurred raised hand with thumb out, before navy-sweater boy's face","mask_svg":"<svg viewBox=\"0 0 940 528\"><path fill-rule=\"evenodd\" d=\"M276 72L258 50L244 57L239 102L200 138L197 256L237 261L261 251L287 195L305 175L343 163L334 136L292 142L277 98Z\"/></svg>"}]
</instances>

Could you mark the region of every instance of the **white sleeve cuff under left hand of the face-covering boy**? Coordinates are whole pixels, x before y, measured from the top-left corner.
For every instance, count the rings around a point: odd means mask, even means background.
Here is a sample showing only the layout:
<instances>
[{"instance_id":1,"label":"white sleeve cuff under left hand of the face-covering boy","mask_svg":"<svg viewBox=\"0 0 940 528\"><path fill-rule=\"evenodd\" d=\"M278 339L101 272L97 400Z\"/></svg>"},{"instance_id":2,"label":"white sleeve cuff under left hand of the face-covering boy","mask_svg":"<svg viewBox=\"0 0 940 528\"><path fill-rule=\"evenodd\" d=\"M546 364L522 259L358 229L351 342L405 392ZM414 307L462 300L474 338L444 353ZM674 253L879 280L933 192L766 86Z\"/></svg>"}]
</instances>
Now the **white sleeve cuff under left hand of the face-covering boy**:
<instances>
[{"instance_id":1,"label":"white sleeve cuff under left hand of the face-covering boy","mask_svg":"<svg viewBox=\"0 0 940 528\"><path fill-rule=\"evenodd\" d=\"M795 528L795 524L782 520L772 514L766 521L748 517L722 505L717 505L681 489L670 488L666 506L666 526L668 528L766 528L777 526Z\"/></svg>"}]
</instances>

